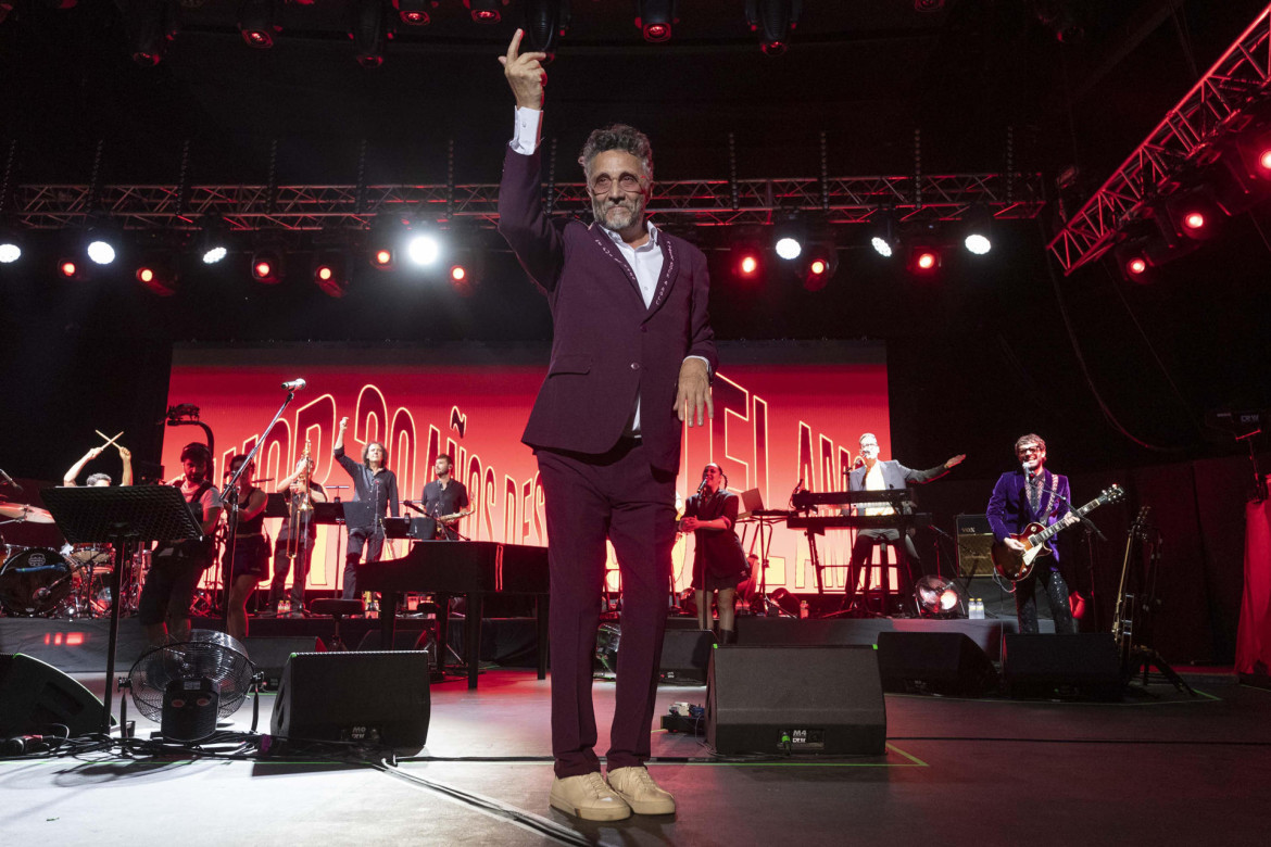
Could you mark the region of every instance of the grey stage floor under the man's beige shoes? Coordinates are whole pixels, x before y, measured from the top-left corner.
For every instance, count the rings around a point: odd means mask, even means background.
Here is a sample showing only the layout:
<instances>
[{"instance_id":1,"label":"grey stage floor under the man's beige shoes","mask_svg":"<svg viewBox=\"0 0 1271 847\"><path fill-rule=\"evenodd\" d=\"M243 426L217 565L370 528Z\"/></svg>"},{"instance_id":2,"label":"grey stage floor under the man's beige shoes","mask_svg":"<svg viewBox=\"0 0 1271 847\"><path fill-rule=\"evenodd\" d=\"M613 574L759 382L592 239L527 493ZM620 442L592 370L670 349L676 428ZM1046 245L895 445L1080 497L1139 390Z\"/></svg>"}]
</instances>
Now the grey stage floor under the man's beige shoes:
<instances>
[{"instance_id":1,"label":"grey stage floor under the man's beige shoes","mask_svg":"<svg viewBox=\"0 0 1271 847\"><path fill-rule=\"evenodd\" d=\"M102 693L102 674L76 678ZM421 756L435 759L395 775L305 761L8 761L0 832L60 846L1266 843L1271 691L1229 670L1187 678L1201 696L1167 684L1152 686L1159 700L1108 705L887 695L878 758L710 763L700 740L655 731L649 768L679 811L591 824L548 808L549 683L492 670L478 691L432 687ZM597 681L595 700L604 750L614 684ZM676 701L704 704L705 687L661 687L658 714ZM262 729L272 706L261 698ZM234 723L249 728L250 704Z\"/></svg>"}]
</instances>

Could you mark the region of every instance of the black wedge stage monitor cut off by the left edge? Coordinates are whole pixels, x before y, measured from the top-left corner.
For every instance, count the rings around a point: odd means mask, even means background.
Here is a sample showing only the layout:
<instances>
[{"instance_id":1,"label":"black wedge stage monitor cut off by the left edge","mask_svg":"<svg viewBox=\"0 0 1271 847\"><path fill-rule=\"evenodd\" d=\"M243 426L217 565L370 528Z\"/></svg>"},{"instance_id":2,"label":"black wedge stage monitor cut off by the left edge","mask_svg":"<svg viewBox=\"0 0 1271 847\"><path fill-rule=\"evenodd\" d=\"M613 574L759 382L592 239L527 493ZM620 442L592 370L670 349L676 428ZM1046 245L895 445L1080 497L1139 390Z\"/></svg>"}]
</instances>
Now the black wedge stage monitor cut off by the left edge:
<instances>
[{"instance_id":1,"label":"black wedge stage monitor cut off by the left edge","mask_svg":"<svg viewBox=\"0 0 1271 847\"><path fill-rule=\"evenodd\" d=\"M105 706L65 673L22 653L0 654L0 739L13 735L71 738L102 730Z\"/></svg>"}]
</instances>

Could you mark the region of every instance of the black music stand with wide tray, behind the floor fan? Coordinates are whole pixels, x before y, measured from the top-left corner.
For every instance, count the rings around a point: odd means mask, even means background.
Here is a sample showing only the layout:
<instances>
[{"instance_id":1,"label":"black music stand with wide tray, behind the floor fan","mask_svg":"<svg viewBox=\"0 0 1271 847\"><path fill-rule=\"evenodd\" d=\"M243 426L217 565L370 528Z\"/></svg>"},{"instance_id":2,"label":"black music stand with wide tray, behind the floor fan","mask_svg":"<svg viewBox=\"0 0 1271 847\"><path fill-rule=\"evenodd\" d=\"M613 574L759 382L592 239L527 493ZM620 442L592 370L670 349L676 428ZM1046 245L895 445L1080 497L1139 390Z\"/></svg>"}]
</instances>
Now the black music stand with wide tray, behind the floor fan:
<instances>
[{"instance_id":1,"label":"black music stand with wide tray, behind the floor fan","mask_svg":"<svg viewBox=\"0 0 1271 847\"><path fill-rule=\"evenodd\" d=\"M114 547L111 574L111 636L105 653L105 695L102 734L111 734L111 700L114 693L114 649L119 639L119 575L130 544L202 538L186 498L172 485L85 486L41 489L53 523L70 544L107 544Z\"/></svg>"}]
</instances>

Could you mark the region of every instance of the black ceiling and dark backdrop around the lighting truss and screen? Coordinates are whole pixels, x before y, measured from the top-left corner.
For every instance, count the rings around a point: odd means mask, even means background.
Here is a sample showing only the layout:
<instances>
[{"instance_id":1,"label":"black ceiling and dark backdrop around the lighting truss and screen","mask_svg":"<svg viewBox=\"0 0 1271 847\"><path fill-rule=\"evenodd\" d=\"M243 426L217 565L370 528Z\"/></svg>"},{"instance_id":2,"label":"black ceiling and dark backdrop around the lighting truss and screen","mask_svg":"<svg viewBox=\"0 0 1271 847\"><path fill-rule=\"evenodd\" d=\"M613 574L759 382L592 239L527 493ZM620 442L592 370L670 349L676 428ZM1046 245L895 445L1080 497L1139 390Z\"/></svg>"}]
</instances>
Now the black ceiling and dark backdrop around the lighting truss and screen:
<instances>
[{"instance_id":1,"label":"black ceiling and dark backdrop around the lighting truss and screen","mask_svg":"<svg viewBox=\"0 0 1271 847\"><path fill-rule=\"evenodd\" d=\"M441 183L451 143L458 182L498 178L512 98L496 57L517 0L493 27L442 0L433 24L400 33L376 70L355 61L348 4L333 0L285 5L272 51L243 44L235 4L206 0L183 10L155 67L130 58L113 4L51 5L17 0L0 23L0 138L18 142L18 183L86 183L102 141L102 180L173 184L186 140L198 184L262 183L273 141L283 184L356 182L364 141L369 183ZM833 177L911 173L915 128L924 173L995 170L1010 128L1018 168L1050 184L1077 164L1084 197L1263 4L1073 0L1059 5L1084 37L1061 43L1026 0L947 0L934 13L913 0L803 0L780 57L760 52L744 0L683 0L663 44L642 39L632 0L572 5L544 127L561 142L561 168L611 121L652 136L662 179L727 178L730 132L742 178L817 175L822 131ZM1057 279L1045 253L1054 216L1012 223L990 262L951 263L927 283L840 244L839 274L822 292L777 277L747 290L713 254L716 329L726 339L885 339L892 438L911 464L966 451L969 472L988 476L1002 443L1033 429L1066 444L1068 467L1240 450L1202 418L1219 405L1271 406L1267 210L1232 218L1216 243L1136 288L1106 263ZM9 448L39 470L38 446L80 437L62 430L94 409L93 425L136 427L108 420L121 386L161 386L174 339L541 343L541 298L513 284L508 257L489 262L469 300L381 278L337 301L302 274L264 290L245 270L228 281L197 268L160 300L126 276L79 286L3 272L0 330L14 354L0 377L0 430L27 433ZM92 385L93 409L75 400L83 389L62 385ZM65 467L61 455L50 461Z\"/></svg>"}]
</instances>

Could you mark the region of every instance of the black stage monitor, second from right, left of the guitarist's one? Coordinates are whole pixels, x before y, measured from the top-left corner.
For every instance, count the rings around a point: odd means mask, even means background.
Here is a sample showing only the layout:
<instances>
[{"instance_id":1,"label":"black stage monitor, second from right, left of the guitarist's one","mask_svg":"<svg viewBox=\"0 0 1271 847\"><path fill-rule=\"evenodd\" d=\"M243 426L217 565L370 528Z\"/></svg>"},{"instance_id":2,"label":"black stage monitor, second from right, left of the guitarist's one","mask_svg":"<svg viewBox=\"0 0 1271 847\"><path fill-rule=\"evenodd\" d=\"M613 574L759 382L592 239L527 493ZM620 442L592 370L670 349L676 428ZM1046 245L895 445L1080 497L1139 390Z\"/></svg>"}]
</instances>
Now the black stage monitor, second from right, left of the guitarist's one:
<instances>
[{"instance_id":1,"label":"black stage monitor, second from right, left of the guitarist's one","mask_svg":"<svg viewBox=\"0 0 1271 847\"><path fill-rule=\"evenodd\" d=\"M993 662L963 632L880 632L882 690L979 697L998 683Z\"/></svg>"}]
</instances>

